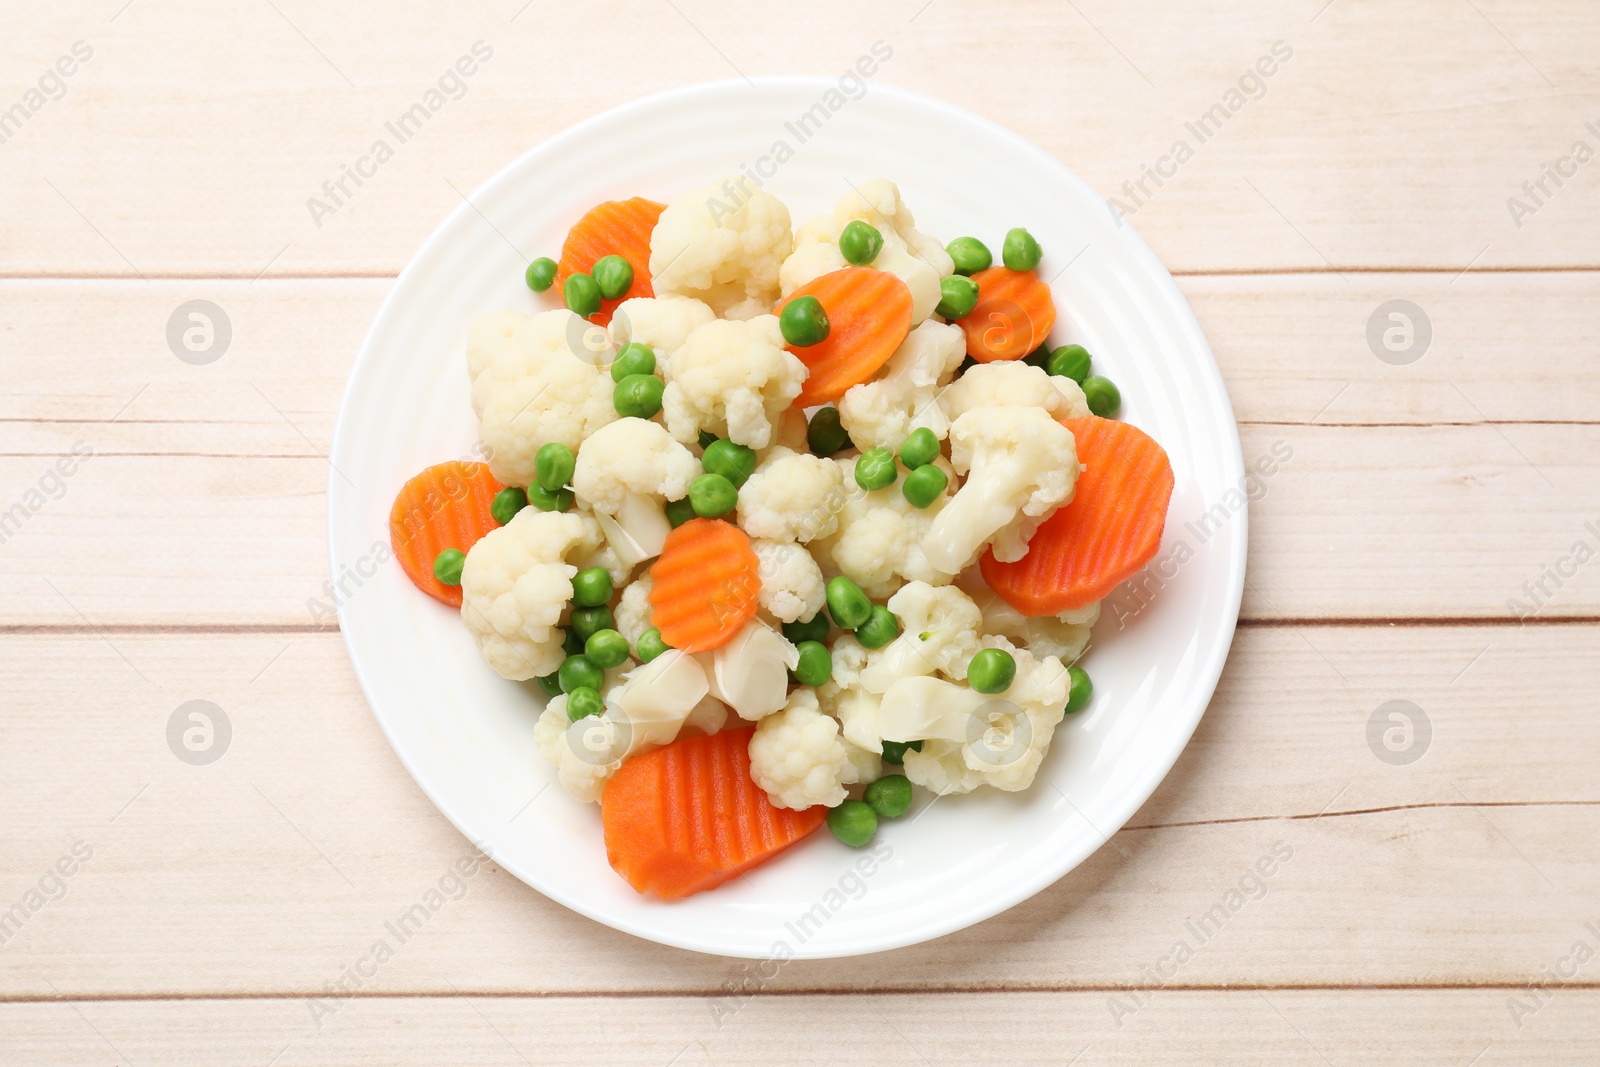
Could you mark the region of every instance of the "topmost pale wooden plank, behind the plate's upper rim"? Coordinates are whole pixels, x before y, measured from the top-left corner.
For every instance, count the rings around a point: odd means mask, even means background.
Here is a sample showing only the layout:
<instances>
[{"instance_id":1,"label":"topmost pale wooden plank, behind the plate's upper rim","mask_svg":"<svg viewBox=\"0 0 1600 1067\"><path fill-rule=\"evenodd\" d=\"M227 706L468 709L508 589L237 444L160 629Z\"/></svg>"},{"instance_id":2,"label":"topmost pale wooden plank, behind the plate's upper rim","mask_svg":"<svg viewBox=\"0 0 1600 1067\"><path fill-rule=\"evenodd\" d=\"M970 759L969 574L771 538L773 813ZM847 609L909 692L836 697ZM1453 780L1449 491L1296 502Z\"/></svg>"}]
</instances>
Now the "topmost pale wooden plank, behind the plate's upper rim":
<instances>
[{"instance_id":1,"label":"topmost pale wooden plank, behind the plate's upper rim","mask_svg":"<svg viewBox=\"0 0 1600 1067\"><path fill-rule=\"evenodd\" d=\"M1584 0L1032 0L984 19L920 2L518 6L186 0L109 22L98 8L14 11L0 34L18 72L8 102L75 40L94 54L5 146L0 269L392 274L456 189L581 118L688 82L837 75L874 40L894 48L877 82L1005 123L1107 197L1134 195L1123 186L1147 166L1174 173L1158 189L1144 179L1131 221L1182 270L1597 264L1592 168L1562 189L1546 179L1550 197L1520 227L1507 208L1574 141L1600 144L1584 125L1600 90ZM477 40L494 54L466 94L318 229L307 198ZM1230 99L1277 42L1293 56L1264 90L1245 82L1258 99ZM1237 107L1202 142L1186 123L1218 104ZM1174 171L1162 157L1179 139L1194 158Z\"/></svg>"}]
</instances>

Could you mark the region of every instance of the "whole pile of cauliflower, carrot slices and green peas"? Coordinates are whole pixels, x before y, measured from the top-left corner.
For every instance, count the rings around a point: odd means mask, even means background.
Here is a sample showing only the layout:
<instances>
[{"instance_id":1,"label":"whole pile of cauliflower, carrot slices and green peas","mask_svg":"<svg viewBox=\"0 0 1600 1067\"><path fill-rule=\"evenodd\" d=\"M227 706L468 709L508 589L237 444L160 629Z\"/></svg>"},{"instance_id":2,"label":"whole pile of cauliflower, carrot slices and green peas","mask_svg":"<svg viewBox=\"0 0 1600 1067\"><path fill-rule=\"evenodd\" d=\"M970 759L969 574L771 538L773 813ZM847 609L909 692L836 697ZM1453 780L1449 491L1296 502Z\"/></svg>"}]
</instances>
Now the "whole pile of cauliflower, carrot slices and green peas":
<instances>
[{"instance_id":1,"label":"whole pile of cauliflower, carrot slices and green peas","mask_svg":"<svg viewBox=\"0 0 1600 1067\"><path fill-rule=\"evenodd\" d=\"M1027 789L1090 702L1173 470L1050 346L1040 258L941 245L888 181L795 230L736 179L595 206L526 270L565 307L474 323L488 462L408 482L395 553L549 694L538 750L637 891Z\"/></svg>"}]
</instances>

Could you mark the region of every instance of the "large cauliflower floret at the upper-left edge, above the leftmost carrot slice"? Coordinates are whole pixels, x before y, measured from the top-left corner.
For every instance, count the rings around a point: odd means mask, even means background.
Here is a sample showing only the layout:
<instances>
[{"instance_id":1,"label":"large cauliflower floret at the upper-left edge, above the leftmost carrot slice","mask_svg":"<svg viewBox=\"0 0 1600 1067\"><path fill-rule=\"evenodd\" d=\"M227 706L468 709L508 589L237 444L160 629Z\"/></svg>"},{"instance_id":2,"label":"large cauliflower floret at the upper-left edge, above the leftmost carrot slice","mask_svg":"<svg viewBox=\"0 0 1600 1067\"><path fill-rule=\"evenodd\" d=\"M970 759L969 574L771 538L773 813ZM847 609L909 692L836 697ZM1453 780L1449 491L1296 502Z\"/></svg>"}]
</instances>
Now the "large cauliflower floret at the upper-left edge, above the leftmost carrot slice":
<instances>
[{"instance_id":1,"label":"large cauliflower floret at the upper-left edge, above the leftmost carrot slice","mask_svg":"<svg viewBox=\"0 0 1600 1067\"><path fill-rule=\"evenodd\" d=\"M472 411L490 472L504 485L530 485L542 445L576 450L616 419L614 382L571 349L582 320L565 309L541 315L490 312L467 336Z\"/></svg>"}]
</instances>

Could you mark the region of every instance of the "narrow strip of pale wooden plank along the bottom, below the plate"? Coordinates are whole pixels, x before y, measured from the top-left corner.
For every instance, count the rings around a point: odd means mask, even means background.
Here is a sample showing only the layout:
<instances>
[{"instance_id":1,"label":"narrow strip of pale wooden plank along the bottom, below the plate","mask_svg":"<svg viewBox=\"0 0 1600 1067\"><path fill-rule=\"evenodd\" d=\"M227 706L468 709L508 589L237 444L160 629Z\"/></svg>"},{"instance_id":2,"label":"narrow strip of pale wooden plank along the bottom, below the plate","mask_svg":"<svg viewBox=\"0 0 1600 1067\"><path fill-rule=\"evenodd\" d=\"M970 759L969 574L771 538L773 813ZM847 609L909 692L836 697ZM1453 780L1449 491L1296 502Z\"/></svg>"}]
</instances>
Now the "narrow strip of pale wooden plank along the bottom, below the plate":
<instances>
[{"instance_id":1,"label":"narrow strip of pale wooden plank along the bottom, below the plate","mask_svg":"<svg viewBox=\"0 0 1600 1067\"><path fill-rule=\"evenodd\" d=\"M1509 990L1163 992L1118 1027L1106 993L0 1005L10 1062L267 1064L1541 1064L1600 1056L1594 989L1509 1022ZM1474 1057L1477 1057L1474 1061Z\"/></svg>"}]
</instances>

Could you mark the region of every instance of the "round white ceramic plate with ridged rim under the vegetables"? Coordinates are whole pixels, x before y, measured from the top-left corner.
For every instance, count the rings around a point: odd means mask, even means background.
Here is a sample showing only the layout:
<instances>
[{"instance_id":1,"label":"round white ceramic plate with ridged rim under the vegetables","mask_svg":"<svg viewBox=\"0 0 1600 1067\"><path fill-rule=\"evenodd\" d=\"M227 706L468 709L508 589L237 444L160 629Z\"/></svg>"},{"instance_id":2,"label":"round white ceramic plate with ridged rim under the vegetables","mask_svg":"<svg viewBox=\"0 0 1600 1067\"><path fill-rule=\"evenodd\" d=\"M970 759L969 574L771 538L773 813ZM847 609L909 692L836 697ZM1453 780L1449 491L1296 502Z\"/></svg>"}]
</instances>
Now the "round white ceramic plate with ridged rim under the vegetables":
<instances>
[{"instance_id":1,"label":"round white ceramic plate with ridged rim under the vegetables","mask_svg":"<svg viewBox=\"0 0 1600 1067\"><path fill-rule=\"evenodd\" d=\"M1066 166L984 118L901 90L829 98L835 88L824 78L691 86L590 118L510 163L434 232L384 301L331 451L333 571L357 576L339 624L406 769L462 833L539 893L699 952L835 957L909 945L1061 878L1144 803L1189 741L1227 656L1245 577L1242 510L1206 539L1187 525L1242 501L1238 432L1206 341L1144 242ZM806 112L827 118L800 142L794 123ZM1157 557L1168 565L1149 606L1131 595L1118 609L1107 605L1083 661L1094 702L1056 734L1029 792L950 797L925 816L923 797L882 825L870 857L824 830L749 878L662 904L610 869L598 809L552 784L533 745L538 686L494 675L458 614L413 589L392 560L366 574L386 555L400 485L474 448L469 323L498 307L555 306L554 293L525 288L526 261L555 256L568 224L600 200L669 202L754 168L779 141L794 155L765 187L797 224L830 210L846 181L883 176L941 240L973 234L998 251L1013 226L1038 237L1061 312L1054 342L1085 344L1098 373L1122 387L1122 418L1171 454L1176 490Z\"/></svg>"}]
</instances>

